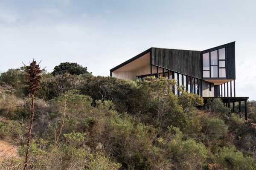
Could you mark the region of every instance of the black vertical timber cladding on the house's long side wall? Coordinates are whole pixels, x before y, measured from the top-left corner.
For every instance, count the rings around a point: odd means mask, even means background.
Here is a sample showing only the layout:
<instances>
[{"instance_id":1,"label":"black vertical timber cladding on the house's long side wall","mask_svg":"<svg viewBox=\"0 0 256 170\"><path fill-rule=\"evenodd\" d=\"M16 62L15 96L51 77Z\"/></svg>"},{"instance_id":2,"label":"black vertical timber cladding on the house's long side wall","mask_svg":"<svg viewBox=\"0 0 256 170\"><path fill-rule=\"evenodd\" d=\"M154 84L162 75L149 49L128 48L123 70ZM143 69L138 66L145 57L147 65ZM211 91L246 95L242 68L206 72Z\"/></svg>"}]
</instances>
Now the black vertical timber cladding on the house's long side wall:
<instances>
[{"instance_id":1,"label":"black vertical timber cladding on the house's long side wall","mask_svg":"<svg viewBox=\"0 0 256 170\"><path fill-rule=\"evenodd\" d=\"M152 64L201 79L201 51L152 48Z\"/></svg>"}]
</instances>

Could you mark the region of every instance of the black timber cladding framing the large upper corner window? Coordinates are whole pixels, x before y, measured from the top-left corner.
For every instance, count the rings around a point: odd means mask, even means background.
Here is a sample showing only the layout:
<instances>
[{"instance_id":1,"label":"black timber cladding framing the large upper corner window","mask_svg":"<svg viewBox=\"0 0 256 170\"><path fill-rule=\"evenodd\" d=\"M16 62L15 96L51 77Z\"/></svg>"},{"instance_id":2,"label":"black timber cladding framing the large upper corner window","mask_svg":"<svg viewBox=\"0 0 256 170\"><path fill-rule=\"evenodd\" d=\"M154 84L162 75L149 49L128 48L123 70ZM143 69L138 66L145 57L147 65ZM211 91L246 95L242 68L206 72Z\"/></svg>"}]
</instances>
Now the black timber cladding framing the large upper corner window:
<instances>
[{"instance_id":1,"label":"black timber cladding framing the large upper corner window","mask_svg":"<svg viewBox=\"0 0 256 170\"><path fill-rule=\"evenodd\" d=\"M210 48L201 52L201 54L215 51L221 48L226 48L226 79L236 79L236 54L235 42L220 45L218 47Z\"/></svg>"}]
</instances>

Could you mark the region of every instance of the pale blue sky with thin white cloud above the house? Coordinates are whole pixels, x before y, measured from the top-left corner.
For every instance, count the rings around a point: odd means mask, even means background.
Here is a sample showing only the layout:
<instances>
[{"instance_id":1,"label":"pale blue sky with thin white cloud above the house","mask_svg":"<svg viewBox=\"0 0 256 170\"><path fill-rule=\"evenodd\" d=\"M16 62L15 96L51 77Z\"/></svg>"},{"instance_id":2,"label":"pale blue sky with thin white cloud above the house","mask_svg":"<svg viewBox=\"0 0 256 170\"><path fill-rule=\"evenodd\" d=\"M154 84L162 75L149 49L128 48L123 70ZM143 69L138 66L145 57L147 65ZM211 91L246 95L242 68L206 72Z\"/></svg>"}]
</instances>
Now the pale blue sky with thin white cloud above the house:
<instances>
[{"instance_id":1,"label":"pale blue sky with thin white cloud above the house","mask_svg":"<svg viewBox=\"0 0 256 170\"><path fill-rule=\"evenodd\" d=\"M93 75L150 47L202 51L236 41L236 96L256 100L255 0L0 0L0 72L42 60Z\"/></svg>"}]
</instances>

